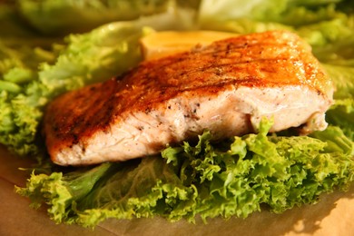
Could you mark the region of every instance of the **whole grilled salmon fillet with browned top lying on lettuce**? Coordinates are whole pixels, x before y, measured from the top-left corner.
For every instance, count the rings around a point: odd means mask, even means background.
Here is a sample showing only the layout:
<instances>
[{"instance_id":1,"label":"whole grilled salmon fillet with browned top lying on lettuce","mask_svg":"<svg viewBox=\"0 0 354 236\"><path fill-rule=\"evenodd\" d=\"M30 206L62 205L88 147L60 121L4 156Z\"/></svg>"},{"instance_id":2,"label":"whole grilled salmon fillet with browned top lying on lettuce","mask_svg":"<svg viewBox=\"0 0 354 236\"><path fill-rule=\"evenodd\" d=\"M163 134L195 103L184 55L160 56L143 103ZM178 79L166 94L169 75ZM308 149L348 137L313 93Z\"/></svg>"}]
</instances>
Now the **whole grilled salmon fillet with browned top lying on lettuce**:
<instances>
[{"instance_id":1,"label":"whole grilled salmon fillet with browned top lying on lettuce","mask_svg":"<svg viewBox=\"0 0 354 236\"><path fill-rule=\"evenodd\" d=\"M301 126L326 128L332 86L296 34L272 31L214 42L139 64L101 84L64 93L44 115L60 165L124 161L210 130L216 138Z\"/></svg>"}]
</instances>

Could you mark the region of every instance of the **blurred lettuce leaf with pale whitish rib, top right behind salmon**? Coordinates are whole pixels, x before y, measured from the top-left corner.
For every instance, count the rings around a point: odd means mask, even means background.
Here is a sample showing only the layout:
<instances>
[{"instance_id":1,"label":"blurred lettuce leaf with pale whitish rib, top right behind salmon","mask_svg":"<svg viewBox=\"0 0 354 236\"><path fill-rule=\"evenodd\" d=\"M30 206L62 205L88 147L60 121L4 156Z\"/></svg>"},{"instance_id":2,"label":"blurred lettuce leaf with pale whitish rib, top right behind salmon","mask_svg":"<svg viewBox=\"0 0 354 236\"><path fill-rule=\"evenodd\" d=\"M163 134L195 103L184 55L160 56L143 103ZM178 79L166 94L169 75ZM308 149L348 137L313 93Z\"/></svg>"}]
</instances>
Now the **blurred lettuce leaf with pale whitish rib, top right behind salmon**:
<instances>
[{"instance_id":1,"label":"blurred lettuce leaf with pale whitish rib, top right behind salmon","mask_svg":"<svg viewBox=\"0 0 354 236\"><path fill-rule=\"evenodd\" d=\"M354 18L345 1L202 1L202 28L239 34L286 29L299 34L322 63L353 66ZM346 3L349 5L349 3ZM352 9L347 7L346 10Z\"/></svg>"}]
</instances>

